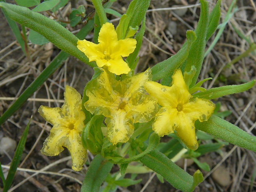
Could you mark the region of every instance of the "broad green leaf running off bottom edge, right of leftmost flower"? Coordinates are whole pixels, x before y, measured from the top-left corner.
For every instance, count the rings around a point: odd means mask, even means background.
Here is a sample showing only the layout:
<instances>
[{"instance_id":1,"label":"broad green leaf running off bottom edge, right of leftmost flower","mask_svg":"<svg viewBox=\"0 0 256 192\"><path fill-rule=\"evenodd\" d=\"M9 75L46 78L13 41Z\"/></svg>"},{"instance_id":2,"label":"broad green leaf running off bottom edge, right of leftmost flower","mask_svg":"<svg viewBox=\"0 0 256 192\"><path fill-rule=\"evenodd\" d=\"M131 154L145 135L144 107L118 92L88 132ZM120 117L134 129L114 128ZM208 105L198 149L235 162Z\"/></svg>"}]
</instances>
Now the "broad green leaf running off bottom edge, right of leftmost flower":
<instances>
[{"instance_id":1,"label":"broad green leaf running off bottom edge, right of leftmost flower","mask_svg":"<svg viewBox=\"0 0 256 192\"><path fill-rule=\"evenodd\" d=\"M86 171L81 192L97 192L113 164L106 161L101 155L96 155Z\"/></svg>"}]
</instances>

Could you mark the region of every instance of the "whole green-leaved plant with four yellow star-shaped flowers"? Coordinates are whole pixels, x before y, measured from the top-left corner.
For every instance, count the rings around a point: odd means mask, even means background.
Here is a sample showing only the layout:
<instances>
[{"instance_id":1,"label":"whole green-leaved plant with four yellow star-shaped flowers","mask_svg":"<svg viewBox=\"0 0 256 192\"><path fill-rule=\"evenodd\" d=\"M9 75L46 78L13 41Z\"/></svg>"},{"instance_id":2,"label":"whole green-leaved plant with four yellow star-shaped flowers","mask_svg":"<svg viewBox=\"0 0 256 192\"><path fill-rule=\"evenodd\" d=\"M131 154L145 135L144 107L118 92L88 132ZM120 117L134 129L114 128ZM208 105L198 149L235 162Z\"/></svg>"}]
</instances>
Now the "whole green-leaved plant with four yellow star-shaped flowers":
<instances>
[{"instance_id":1,"label":"whole green-leaved plant with four yellow star-shaped flowers","mask_svg":"<svg viewBox=\"0 0 256 192\"><path fill-rule=\"evenodd\" d=\"M95 14L86 17L83 7L74 12L78 18L70 14L70 24L84 24L76 36L60 25L60 21L38 13L45 10L56 12L59 8L58 1L54 6L47 2L50 1L43 2L43 6L38 2L34 11L24 6L37 4L27 2L19 6L0 2L8 20L33 29L34 34L43 35L62 49L0 117L0 124L22 106L69 54L83 61L84 65L94 67L92 79L84 84L82 99L74 88L66 86L65 102L61 108L40 106L38 109L40 115L53 125L42 146L44 155L58 155L66 147L75 171L83 168L88 151L96 155L88 164L81 188L83 192L98 191L100 187L104 188L102 191L108 191L117 185L136 184L139 180L124 179L124 174L151 171L177 189L193 191L203 181L202 173L197 170L191 176L173 161L188 150L199 149L197 129L256 152L256 137L212 115L215 101L211 101L248 90L255 80L209 90L200 87L209 79L196 83L204 61L206 42L219 24L220 0L211 13L208 2L200 0L198 25L194 31L186 32L187 40L180 51L138 74L134 74L134 69L139 59L150 0L132 0L116 29L106 17L113 1L92 0ZM94 43L85 39L93 27ZM164 135L180 146L175 149L174 157L160 152L166 151L170 144L158 147L160 137ZM138 162L136 166L129 164L133 161ZM120 174L111 171L114 164L119 166ZM8 188L12 180L5 180L2 169L0 175ZM104 181L106 184L102 185Z\"/></svg>"}]
</instances>

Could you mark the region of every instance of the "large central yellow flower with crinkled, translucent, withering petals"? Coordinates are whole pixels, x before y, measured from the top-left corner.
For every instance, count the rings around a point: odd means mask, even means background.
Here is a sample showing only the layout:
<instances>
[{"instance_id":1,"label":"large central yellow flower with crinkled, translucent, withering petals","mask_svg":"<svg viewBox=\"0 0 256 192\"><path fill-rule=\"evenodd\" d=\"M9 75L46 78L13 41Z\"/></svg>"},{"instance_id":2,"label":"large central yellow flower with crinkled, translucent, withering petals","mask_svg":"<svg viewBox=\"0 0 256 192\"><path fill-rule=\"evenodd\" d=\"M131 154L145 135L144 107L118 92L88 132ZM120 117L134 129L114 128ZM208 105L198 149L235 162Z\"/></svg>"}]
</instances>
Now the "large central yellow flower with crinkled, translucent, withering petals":
<instances>
[{"instance_id":1,"label":"large central yellow flower with crinkled, translucent, withering petals","mask_svg":"<svg viewBox=\"0 0 256 192\"><path fill-rule=\"evenodd\" d=\"M151 78L150 69L122 81L103 71L96 85L86 90L89 100L84 106L92 114L106 117L107 137L113 145L129 140L134 123L148 122L156 114L157 100L146 94L143 87Z\"/></svg>"}]
</instances>

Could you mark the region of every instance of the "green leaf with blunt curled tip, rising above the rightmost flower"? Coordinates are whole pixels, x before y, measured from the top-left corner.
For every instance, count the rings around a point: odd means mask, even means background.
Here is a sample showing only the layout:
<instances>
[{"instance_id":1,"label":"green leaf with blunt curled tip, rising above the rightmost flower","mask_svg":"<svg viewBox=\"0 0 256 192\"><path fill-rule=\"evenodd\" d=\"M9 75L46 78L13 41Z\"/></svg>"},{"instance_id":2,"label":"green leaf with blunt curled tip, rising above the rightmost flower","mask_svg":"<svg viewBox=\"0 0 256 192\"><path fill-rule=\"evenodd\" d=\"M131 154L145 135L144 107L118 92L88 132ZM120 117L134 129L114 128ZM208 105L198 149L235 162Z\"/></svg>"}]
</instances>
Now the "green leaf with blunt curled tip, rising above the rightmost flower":
<instances>
[{"instance_id":1,"label":"green leaf with blunt curled tip, rising above the rightmost flower","mask_svg":"<svg viewBox=\"0 0 256 192\"><path fill-rule=\"evenodd\" d=\"M196 39L196 34L192 30L188 30L186 33L187 41L182 48L170 57L152 67L152 81L164 78L174 72L188 57L190 46Z\"/></svg>"}]
</instances>

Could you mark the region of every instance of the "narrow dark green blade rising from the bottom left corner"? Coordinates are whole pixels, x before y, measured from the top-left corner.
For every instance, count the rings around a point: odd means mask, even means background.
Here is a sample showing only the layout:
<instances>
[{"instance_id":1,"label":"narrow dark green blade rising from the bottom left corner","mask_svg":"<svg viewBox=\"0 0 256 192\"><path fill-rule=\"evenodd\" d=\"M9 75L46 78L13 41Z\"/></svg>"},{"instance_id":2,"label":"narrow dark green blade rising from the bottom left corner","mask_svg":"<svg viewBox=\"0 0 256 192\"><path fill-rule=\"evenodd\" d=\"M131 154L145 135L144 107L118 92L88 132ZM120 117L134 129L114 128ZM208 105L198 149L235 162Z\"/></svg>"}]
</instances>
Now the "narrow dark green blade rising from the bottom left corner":
<instances>
[{"instance_id":1,"label":"narrow dark green blade rising from the bottom left corner","mask_svg":"<svg viewBox=\"0 0 256 192\"><path fill-rule=\"evenodd\" d=\"M30 119L30 121L31 121L31 119ZM20 141L19 141L16 151L14 153L14 157L12 159L12 163L11 163L11 166L10 166L10 169L9 169L6 181L5 181L3 192L7 192L8 189L10 188L10 186L12 185L12 181L15 176L17 167L20 163L20 158L21 158L21 155L23 153L23 149L24 149L24 146L26 143L30 121L28 122L28 125L26 126L24 132L22 133L22 136L20 138Z\"/></svg>"}]
</instances>

